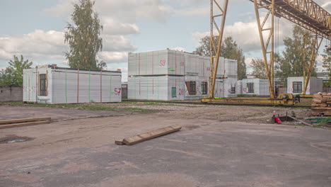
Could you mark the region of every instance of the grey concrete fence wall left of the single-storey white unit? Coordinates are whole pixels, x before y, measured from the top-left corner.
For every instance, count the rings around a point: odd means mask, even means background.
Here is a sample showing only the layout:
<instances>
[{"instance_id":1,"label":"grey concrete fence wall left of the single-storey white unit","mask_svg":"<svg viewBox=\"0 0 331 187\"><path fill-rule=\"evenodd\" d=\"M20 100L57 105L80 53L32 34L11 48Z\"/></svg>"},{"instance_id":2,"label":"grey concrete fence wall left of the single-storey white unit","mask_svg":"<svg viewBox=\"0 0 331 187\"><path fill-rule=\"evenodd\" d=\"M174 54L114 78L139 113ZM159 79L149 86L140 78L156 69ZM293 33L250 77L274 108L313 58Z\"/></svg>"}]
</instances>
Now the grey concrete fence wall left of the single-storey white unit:
<instances>
[{"instance_id":1,"label":"grey concrete fence wall left of the single-storey white unit","mask_svg":"<svg viewBox=\"0 0 331 187\"><path fill-rule=\"evenodd\" d=\"M0 102L3 101L23 101L23 88L0 86Z\"/></svg>"}]
</instances>

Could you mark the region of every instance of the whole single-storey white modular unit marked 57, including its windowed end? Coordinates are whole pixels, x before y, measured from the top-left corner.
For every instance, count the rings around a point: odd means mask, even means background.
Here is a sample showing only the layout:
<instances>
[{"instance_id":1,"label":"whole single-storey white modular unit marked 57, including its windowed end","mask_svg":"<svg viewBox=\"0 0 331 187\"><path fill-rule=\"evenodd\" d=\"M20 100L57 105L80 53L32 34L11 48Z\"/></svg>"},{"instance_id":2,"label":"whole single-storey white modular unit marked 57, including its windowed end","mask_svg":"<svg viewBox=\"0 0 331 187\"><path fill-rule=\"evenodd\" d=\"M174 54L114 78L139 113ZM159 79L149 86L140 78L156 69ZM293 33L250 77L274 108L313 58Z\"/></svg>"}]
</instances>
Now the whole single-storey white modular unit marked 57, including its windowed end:
<instances>
[{"instance_id":1,"label":"whole single-storey white modular unit marked 57, including its windowed end","mask_svg":"<svg viewBox=\"0 0 331 187\"><path fill-rule=\"evenodd\" d=\"M23 101L34 103L120 102L121 72L54 66L23 69Z\"/></svg>"}]
</instances>

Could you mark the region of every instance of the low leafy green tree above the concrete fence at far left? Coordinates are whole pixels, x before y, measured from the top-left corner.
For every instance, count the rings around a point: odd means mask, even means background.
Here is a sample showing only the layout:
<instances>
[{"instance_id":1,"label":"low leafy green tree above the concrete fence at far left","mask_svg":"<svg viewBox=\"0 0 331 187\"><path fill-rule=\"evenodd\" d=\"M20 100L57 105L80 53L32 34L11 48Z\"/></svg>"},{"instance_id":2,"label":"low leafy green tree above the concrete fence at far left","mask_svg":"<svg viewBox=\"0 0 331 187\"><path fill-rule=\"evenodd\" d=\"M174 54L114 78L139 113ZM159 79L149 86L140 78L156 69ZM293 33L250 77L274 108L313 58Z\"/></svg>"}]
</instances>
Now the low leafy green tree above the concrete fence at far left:
<instances>
[{"instance_id":1,"label":"low leafy green tree above the concrete fence at far left","mask_svg":"<svg viewBox=\"0 0 331 187\"><path fill-rule=\"evenodd\" d=\"M15 55L8 62L8 67L0 72L1 86L23 86L23 69L31 67L33 62L24 60L23 56L18 59Z\"/></svg>"}]
</instances>

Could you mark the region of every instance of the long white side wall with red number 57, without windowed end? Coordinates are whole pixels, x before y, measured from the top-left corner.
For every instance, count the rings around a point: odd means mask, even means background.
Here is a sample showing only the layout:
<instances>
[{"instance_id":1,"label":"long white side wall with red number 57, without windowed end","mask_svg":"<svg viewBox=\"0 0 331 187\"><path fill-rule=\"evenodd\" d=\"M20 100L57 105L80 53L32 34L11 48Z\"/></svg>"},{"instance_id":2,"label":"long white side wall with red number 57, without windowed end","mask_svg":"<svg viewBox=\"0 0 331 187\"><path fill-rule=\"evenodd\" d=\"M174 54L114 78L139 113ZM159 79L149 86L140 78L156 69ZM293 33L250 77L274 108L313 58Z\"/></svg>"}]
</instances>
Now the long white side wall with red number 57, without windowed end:
<instances>
[{"instance_id":1,"label":"long white side wall with red number 57, without windowed end","mask_svg":"<svg viewBox=\"0 0 331 187\"><path fill-rule=\"evenodd\" d=\"M120 102L118 72L53 69L52 103Z\"/></svg>"}]
</instances>

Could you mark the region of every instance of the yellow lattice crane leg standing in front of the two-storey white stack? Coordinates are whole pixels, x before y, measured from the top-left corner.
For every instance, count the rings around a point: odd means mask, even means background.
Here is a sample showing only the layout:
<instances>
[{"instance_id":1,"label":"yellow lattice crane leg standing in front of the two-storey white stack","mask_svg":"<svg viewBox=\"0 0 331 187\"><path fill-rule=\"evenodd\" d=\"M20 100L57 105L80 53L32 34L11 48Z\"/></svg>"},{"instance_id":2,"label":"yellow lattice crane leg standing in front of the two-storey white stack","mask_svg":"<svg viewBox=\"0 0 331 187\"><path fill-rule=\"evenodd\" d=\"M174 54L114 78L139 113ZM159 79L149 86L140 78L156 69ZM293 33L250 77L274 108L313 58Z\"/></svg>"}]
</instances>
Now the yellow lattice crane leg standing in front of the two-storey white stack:
<instances>
[{"instance_id":1,"label":"yellow lattice crane leg standing in front of the two-storey white stack","mask_svg":"<svg viewBox=\"0 0 331 187\"><path fill-rule=\"evenodd\" d=\"M209 80L209 98L214 98L214 89L216 83L217 68L219 67L219 57L221 54L221 43L224 33L224 25L226 21L226 11L228 10L228 0L210 0L210 67L211 77ZM221 19L221 26L216 23ZM214 35L214 29L217 30L217 35Z\"/></svg>"}]
</instances>

